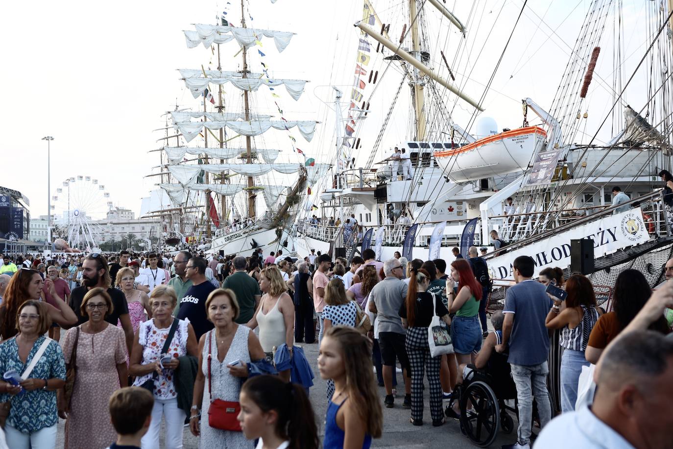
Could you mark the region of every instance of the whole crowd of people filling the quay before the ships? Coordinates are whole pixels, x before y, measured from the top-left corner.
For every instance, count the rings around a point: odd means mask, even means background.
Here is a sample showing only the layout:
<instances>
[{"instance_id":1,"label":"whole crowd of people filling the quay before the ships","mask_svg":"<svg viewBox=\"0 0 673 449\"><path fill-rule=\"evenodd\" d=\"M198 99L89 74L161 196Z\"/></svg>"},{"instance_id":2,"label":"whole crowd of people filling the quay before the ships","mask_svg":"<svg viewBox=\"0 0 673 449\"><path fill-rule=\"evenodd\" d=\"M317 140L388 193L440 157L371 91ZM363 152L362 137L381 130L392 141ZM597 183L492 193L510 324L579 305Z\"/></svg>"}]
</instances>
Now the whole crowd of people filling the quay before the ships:
<instances>
[{"instance_id":1,"label":"whole crowd of people filling the quay before the ships","mask_svg":"<svg viewBox=\"0 0 673 449\"><path fill-rule=\"evenodd\" d=\"M398 364L410 423L424 424L427 382L441 426L460 417L462 384L494 357L518 399L507 447L529 448L534 427L543 448L672 441L673 282L653 293L637 270L618 275L604 310L588 277L546 268L533 279L534 260L519 256L489 328L491 282L476 247L449 265L399 252L378 261L371 249L350 263L282 249L0 261L0 421L12 449L54 448L59 417L73 449L159 448L162 419L166 448L182 447L185 425L201 448L368 448L384 407L396 407ZM433 354L435 333L450 351ZM322 442L296 372L297 345L312 344L327 380Z\"/></svg>"}]
</instances>

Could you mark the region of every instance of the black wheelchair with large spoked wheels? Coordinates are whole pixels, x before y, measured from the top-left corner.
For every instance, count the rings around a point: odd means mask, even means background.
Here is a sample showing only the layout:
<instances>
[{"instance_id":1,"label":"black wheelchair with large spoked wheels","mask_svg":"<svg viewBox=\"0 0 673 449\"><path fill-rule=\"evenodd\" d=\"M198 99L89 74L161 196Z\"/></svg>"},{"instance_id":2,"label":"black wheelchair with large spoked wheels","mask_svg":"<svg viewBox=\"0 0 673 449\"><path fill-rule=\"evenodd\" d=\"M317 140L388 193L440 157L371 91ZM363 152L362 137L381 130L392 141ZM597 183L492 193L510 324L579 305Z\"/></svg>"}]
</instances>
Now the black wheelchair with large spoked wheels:
<instances>
[{"instance_id":1,"label":"black wheelchair with large spoked wheels","mask_svg":"<svg viewBox=\"0 0 673 449\"><path fill-rule=\"evenodd\" d=\"M460 407L460 431L477 446L490 446L498 430L505 434L514 429L514 420L508 412L518 415L516 385L510 375L507 355L493 353L487 368L479 370L468 365L470 372L462 384L456 384L452 399L444 412L452 417L454 403ZM505 401L514 400L514 407Z\"/></svg>"}]
</instances>

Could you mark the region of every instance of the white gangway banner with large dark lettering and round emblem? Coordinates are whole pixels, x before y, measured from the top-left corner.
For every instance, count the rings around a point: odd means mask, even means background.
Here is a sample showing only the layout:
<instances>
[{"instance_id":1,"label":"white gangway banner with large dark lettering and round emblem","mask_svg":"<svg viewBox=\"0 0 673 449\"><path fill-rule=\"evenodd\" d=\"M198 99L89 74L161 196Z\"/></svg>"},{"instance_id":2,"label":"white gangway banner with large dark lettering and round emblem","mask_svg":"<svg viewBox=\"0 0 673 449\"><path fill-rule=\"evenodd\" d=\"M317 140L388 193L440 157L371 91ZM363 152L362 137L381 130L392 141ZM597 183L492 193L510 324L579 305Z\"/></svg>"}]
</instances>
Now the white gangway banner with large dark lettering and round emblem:
<instances>
[{"instance_id":1,"label":"white gangway banner with large dark lettering and round emblem","mask_svg":"<svg viewBox=\"0 0 673 449\"><path fill-rule=\"evenodd\" d=\"M493 279L513 279L512 264L518 256L533 258L535 261L533 277L537 277L546 267L565 269L570 266L570 240L579 238L594 240L594 257L598 258L627 246L647 242L649 234L640 207L636 207L491 258L487 261L491 275ZM432 248L432 243L430 247Z\"/></svg>"}]
</instances>

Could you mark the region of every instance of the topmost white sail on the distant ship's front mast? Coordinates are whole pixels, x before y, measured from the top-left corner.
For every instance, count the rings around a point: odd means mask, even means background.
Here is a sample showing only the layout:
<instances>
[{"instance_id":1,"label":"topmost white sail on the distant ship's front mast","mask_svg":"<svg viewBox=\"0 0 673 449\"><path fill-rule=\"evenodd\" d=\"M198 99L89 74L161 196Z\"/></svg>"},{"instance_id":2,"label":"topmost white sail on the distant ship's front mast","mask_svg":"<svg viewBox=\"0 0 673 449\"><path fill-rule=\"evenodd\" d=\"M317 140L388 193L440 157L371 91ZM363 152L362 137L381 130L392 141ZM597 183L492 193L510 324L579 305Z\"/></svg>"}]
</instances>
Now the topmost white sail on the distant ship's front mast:
<instances>
[{"instance_id":1,"label":"topmost white sail on the distant ship's front mast","mask_svg":"<svg viewBox=\"0 0 673 449\"><path fill-rule=\"evenodd\" d=\"M232 26L220 25L194 25L196 31L185 30L184 38L187 42L188 48L194 48L199 44L203 44L208 48L213 43L224 44L229 40L236 39L236 42L241 46L250 48L255 45L256 40L261 40L262 36L273 38L276 48L279 52L283 52L289 45L294 33L286 31L272 31L272 30L258 30L256 28L235 28Z\"/></svg>"}]
</instances>

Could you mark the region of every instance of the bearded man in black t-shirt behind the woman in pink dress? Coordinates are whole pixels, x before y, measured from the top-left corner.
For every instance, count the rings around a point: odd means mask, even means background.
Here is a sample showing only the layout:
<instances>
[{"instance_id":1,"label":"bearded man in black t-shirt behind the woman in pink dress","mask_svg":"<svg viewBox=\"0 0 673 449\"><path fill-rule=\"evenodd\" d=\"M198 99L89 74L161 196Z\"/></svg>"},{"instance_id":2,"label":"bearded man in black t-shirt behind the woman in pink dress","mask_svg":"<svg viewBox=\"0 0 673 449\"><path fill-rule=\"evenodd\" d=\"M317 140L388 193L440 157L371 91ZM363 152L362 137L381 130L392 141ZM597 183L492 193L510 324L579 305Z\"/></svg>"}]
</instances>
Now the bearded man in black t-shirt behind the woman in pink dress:
<instances>
[{"instance_id":1,"label":"bearded man in black t-shirt behind the woman in pink dress","mask_svg":"<svg viewBox=\"0 0 673 449\"><path fill-rule=\"evenodd\" d=\"M105 320L117 325L117 321L121 322L122 329L126 334L127 348L131 353L131 345L133 344L133 327L131 327L131 318L129 318L129 304L127 304L126 297L121 290L111 287L110 273L108 272L108 261L104 255L93 253L84 258L82 264L82 285L73 290L71 296L71 308L77 315L77 324L82 324L88 320L87 317L81 316L79 307L82 304L87 291L94 287L102 287L107 289L108 295L112 298L112 312L105 317Z\"/></svg>"}]
</instances>

